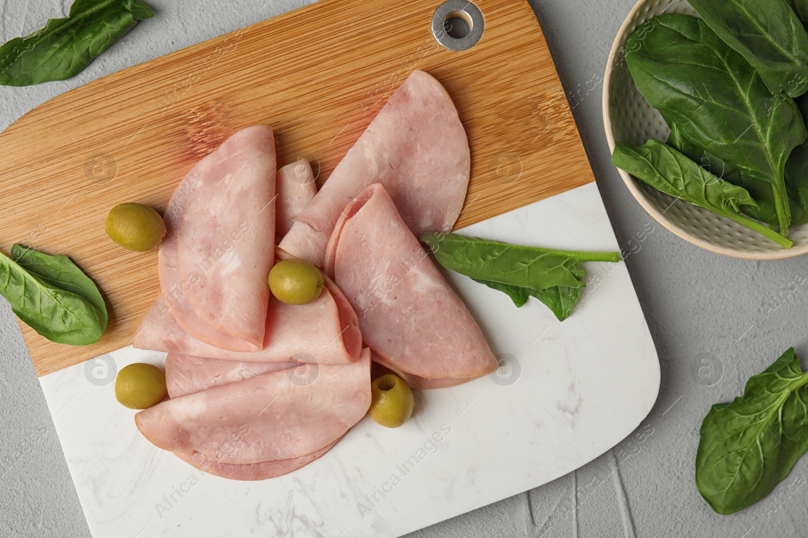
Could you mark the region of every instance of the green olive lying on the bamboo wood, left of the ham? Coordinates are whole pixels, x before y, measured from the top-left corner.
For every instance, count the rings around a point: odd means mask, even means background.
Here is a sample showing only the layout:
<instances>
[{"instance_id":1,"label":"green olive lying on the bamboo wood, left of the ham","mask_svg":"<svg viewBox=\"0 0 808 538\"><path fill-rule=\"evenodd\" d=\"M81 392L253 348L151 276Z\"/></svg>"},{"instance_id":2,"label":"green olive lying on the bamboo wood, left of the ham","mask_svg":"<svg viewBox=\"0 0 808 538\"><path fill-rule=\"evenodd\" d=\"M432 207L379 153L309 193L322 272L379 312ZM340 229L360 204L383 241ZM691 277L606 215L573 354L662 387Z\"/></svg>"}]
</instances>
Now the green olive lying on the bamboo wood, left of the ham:
<instances>
[{"instance_id":1,"label":"green olive lying on the bamboo wood, left of the ham","mask_svg":"<svg viewBox=\"0 0 808 538\"><path fill-rule=\"evenodd\" d=\"M166 223L149 206L122 203L107 215L107 236L123 248L145 252L160 244L166 236Z\"/></svg>"}]
</instances>

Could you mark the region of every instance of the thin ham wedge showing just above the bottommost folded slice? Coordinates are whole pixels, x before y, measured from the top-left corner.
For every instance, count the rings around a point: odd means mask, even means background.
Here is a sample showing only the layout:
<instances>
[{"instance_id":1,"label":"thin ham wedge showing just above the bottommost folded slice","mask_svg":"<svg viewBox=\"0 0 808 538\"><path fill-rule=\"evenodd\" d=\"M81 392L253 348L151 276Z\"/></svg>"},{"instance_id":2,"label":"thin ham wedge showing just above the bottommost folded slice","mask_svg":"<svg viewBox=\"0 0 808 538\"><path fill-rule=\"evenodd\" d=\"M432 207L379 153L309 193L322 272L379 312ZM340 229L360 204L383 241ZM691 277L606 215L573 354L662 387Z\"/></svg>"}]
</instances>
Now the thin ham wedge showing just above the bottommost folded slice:
<instances>
[{"instance_id":1,"label":"thin ham wedge showing just above the bottommost folded slice","mask_svg":"<svg viewBox=\"0 0 808 538\"><path fill-rule=\"evenodd\" d=\"M166 386L170 398L179 398L298 365L298 362L223 361L169 353L166 356Z\"/></svg>"}]
</instances>

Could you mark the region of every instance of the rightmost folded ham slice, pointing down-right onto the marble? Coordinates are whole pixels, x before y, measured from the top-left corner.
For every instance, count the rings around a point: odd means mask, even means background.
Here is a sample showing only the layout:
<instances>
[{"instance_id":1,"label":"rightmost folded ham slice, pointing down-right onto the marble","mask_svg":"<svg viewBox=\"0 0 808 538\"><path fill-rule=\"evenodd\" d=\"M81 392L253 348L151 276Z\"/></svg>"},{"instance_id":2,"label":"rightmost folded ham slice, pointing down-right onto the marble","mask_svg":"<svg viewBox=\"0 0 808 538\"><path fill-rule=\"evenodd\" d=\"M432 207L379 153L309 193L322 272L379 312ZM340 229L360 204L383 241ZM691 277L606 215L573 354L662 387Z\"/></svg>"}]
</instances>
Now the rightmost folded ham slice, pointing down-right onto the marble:
<instances>
[{"instance_id":1,"label":"rightmost folded ham slice, pointing down-right onto the marble","mask_svg":"<svg viewBox=\"0 0 808 538\"><path fill-rule=\"evenodd\" d=\"M480 327L381 184L348 204L327 251L326 273L359 315L364 344L389 369L448 386L498 368Z\"/></svg>"}]
</instances>

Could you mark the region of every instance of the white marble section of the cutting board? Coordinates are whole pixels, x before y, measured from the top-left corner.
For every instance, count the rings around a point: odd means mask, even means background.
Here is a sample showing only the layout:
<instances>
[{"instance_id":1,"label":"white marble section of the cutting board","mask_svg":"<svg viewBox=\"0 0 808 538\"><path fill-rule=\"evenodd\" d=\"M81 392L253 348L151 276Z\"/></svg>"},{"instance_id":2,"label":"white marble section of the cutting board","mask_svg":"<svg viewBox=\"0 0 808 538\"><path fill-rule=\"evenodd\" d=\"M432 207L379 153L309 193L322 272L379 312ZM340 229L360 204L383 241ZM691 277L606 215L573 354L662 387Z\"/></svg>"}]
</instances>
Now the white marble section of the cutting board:
<instances>
[{"instance_id":1,"label":"white marble section of the cutting board","mask_svg":"<svg viewBox=\"0 0 808 538\"><path fill-rule=\"evenodd\" d=\"M460 232L618 249L595 183ZM445 273L503 366L416 391L404 426L366 416L318 461L261 482L205 475L137 431L135 411L115 400L114 375L132 362L163 365L164 353L124 348L40 377L92 536L401 536L577 469L629 435L659 391L657 353L625 264L584 267L589 286L563 323L533 298L517 309L499 291Z\"/></svg>"}]
</instances>

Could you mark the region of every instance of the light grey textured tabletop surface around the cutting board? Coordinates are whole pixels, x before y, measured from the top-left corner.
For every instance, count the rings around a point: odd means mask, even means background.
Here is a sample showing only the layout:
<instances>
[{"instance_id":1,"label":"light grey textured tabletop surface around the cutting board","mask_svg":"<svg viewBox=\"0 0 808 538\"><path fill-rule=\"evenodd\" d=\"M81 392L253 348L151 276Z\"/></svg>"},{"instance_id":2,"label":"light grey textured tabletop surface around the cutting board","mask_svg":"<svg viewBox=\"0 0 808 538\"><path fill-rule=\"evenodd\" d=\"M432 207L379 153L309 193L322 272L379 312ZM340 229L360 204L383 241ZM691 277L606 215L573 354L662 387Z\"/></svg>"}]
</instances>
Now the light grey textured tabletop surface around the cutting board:
<instances>
[{"instance_id":1,"label":"light grey textured tabletop surface around the cutting board","mask_svg":"<svg viewBox=\"0 0 808 538\"><path fill-rule=\"evenodd\" d=\"M150 0L155 18L139 24L74 79L0 87L0 128L95 78L305 3ZM782 490L730 516L714 514L701 500L693 461L701 419L712 403L739 395L747 377L789 346L808 354L803 329L808 291L805 286L789 291L794 277L808 277L806 260L734 260L693 247L655 224L612 169L600 109L608 49L633 0L531 3L564 88L575 95L573 114L617 239L631 252L625 263L659 350L662 386L638 432L604 456L536 490L410 536L805 536L808 493L802 488L788 494L785 485L808 476L808 457L797 462ZM44 19L67 10L53 0L0 0L0 40L34 31ZM713 386L697 382L705 358L722 366ZM90 536L19 327L2 300L0 403L0 536Z\"/></svg>"}]
</instances>

